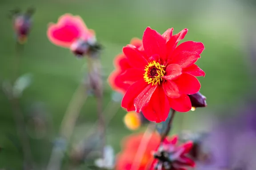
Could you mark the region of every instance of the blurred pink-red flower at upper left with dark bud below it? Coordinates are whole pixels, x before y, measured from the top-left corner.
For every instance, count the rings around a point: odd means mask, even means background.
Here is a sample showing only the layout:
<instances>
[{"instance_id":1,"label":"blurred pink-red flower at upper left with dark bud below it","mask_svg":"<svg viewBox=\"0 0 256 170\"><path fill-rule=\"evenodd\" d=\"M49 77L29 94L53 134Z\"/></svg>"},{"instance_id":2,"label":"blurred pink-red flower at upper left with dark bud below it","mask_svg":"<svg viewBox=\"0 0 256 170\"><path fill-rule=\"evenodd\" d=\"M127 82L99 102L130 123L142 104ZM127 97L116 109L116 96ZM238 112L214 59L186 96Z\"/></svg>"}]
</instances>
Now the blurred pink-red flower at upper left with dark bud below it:
<instances>
[{"instance_id":1,"label":"blurred pink-red flower at upper left with dark bud below it","mask_svg":"<svg viewBox=\"0 0 256 170\"><path fill-rule=\"evenodd\" d=\"M60 16L56 24L49 24L47 35L53 44L69 48L77 56L83 56L97 46L95 32L88 29L78 15Z\"/></svg>"}]
</instances>

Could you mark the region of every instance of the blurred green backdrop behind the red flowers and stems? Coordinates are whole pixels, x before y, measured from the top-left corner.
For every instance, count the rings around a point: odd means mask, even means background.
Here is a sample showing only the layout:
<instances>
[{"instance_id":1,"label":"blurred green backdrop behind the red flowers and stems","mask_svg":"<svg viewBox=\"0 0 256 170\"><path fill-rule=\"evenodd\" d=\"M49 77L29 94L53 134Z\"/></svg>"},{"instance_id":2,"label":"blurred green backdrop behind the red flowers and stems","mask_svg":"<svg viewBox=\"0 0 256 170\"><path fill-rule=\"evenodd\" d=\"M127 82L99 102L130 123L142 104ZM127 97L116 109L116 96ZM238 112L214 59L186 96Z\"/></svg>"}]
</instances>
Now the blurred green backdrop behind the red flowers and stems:
<instances>
[{"instance_id":1,"label":"blurred green backdrop behind the red flowers and stems","mask_svg":"<svg viewBox=\"0 0 256 170\"><path fill-rule=\"evenodd\" d=\"M206 130L204 118L222 115L223 110L239 106L252 89L248 67L248 36L255 27L253 1L243 0L1 0L0 1L0 78L11 80L15 64L15 39L8 11L19 7L35 7L32 32L20 59L20 75L32 73L31 86L24 91L20 103L28 122L31 107L44 103L52 121L51 135L40 139L30 136L33 158L38 165L47 164L51 142L58 135L61 120L72 94L86 70L86 59L76 59L68 49L49 42L47 25L56 23L64 13L80 15L87 26L96 31L104 46L101 61L104 68L104 107L111 100L112 90L107 77L114 69L112 61L133 37L142 38L151 27L160 33L174 27L174 33L188 28L184 41L200 41L205 50L197 62L206 73L199 77L200 92L207 97L207 108L179 113L173 133L181 129ZM106 113L108 116L110 113ZM225 112L224 116L231 115ZM120 139L132 133L124 127L125 111L120 108L107 129L108 143L120 151ZM89 97L82 108L73 141L84 134L97 120L96 100ZM180 122L183 122L182 124ZM143 130L143 129L142 129ZM18 144L17 144L18 143ZM13 120L11 104L0 91L0 168L20 170L22 153L16 147L19 138Z\"/></svg>"}]
</instances>

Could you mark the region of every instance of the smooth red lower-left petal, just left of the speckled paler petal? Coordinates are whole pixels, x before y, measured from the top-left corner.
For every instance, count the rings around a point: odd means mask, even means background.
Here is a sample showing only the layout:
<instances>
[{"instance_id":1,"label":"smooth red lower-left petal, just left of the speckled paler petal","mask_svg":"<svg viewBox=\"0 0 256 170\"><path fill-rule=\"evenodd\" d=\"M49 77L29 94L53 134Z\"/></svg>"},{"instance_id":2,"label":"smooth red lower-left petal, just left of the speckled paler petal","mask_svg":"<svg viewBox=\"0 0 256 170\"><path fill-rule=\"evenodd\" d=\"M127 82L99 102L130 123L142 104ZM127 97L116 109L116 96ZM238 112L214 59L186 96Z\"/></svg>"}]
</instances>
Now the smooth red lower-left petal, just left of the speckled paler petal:
<instances>
[{"instance_id":1,"label":"smooth red lower-left petal, just left of the speckled paler petal","mask_svg":"<svg viewBox=\"0 0 256 170\"><path fill-rule=\"evenodd\" d=\"M134 99L148 86L143 79L133 83L126 91L121 106L127 111L134 111Z\"/></svg>"}]
</instances>

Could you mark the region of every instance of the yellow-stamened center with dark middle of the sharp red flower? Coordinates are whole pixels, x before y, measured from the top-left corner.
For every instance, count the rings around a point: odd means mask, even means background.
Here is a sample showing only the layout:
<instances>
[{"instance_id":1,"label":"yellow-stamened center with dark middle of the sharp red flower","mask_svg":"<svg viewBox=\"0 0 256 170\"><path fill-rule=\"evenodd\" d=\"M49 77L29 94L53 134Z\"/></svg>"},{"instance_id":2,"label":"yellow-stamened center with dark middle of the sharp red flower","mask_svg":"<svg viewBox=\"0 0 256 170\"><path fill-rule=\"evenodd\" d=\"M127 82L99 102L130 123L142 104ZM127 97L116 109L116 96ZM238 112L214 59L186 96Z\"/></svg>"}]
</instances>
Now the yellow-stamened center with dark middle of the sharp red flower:
<instances>
[{"instance_id":1,"label":"yellow-stamened center with dark middle of the sharp red flower","mask_svg":"<svg viewBox=\"0 0 256 170\"><path fill-rule=\"evenodd\" d=\"M162 76L164 76L165 73L164 67L165 66L160 65L159 62L149 62L148 66L145 67L144 81L148 84L152 83L152 85L157 85L157 83L160 84L163 80Z\"/></svg>"}]
</instances>

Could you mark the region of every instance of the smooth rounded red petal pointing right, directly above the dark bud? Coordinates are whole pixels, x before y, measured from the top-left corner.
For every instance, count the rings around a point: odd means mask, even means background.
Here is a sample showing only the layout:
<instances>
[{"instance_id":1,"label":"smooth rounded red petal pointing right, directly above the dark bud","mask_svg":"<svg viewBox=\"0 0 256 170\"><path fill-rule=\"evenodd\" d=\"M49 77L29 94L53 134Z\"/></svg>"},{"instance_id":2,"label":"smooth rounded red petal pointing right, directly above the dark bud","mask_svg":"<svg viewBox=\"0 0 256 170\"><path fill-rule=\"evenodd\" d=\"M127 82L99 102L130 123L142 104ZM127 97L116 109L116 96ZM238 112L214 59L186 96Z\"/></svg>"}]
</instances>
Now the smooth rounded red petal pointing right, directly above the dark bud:
<instances>
[{"instance_id":1,"label":"smooth rounded red petal pointing right, directly above the dark bud","mask_svg":"<svg viewBox=\"0 0 256 170\"><path fill-rule=\"evenodd\" d=\"M179 88L180 93L195 94L200 90L200 82L195 76L183 73L176 80L173 80Z\"/></svg>"}]
</instances>

